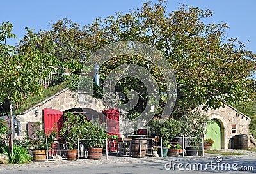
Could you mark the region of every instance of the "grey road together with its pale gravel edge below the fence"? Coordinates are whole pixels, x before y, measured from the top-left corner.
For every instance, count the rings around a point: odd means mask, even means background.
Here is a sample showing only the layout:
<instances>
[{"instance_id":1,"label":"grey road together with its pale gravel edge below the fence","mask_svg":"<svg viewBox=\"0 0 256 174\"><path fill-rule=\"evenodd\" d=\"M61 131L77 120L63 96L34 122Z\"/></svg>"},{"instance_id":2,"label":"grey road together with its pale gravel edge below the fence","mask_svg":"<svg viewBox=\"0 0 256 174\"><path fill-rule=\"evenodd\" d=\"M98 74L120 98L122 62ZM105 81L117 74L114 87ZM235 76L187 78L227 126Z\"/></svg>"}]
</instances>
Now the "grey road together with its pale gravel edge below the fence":
<instances>
[{"instance_id":1,"label":"grey road together with its pale gravel edge below the fence","mask_svg":"<svg viewBox=\"0 0 256 174\"><path fill-rule=\"evenodd\" d=\"M217 158L216 158L217 157ZM232 168L233 167L233 168ZM242 171L246 170L246 171ZM245 156L206 154L204 157L109 157L91 161L49 161L22 165L0 165L0 173L256 173L256 153Z\"/></svg>"}]
</instances>

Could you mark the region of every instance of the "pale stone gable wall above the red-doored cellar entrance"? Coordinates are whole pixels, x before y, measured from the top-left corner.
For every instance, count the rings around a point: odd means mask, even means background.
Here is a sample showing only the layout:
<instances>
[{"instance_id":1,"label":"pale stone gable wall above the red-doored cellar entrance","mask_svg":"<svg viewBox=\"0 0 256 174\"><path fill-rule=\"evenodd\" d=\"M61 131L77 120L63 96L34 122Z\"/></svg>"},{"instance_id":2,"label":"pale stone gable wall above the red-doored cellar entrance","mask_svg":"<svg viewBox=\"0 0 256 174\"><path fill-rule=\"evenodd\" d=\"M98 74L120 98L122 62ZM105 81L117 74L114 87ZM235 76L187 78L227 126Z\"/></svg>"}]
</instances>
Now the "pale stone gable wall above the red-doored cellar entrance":
<instances>
[{"instance_id":1,"label":"pale stone gable wall above the red-doored cellar entrance","mask_svg":"<svg viewBox=\"0 0 256 174\"><path fill-rule=\"evenodd\" d=\"M78 98L78 93L67 89L54 94L45 101L38 103L38 105L29 108L25 112L17 115L20 121L20 136L25 136L28 122L43 122L44 108L52 108L64 112L71 108L90 108L97 112L102 112L105 109L102 101L93 98L88 94L84 94ZM37 114L36 114L37 113Z\"/></svg>"}]
</instances>

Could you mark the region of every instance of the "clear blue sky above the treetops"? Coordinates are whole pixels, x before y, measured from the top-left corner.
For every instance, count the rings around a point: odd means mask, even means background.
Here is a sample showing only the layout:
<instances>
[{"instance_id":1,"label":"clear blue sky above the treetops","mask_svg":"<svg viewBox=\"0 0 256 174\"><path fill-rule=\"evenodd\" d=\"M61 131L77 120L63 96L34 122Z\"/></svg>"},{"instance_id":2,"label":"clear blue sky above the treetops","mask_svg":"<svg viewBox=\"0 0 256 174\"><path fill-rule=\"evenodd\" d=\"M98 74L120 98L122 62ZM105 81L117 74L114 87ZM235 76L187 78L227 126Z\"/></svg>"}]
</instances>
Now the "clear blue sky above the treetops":
<instances>
[{"instance_id":1,"label":"clear blue sky above the treetops","mask_svg":"<svg viewBox=\"0 0 256 174\"><path fill-rule=\"evenodd\" d=\"M153 2L157 2L152 0ZM68 18L77 24L90 24L97 17L115 15L117 11L127 13L134 8L140 8L143 0L107 0L107 1L50 1L50 0L15 0L2 1L0 22L10 21L17 40L8 40L9 45L15 45L26 33L25 27L49 29L49 22ZM246 43L246 49L256 52L256 1L255 0L168 0L166 10L172 12L179 3L186 3L199 8L209 8L213 11L207 22L228 23L228 38L239 38ZM250 40L249 43L247 41Z\"/></svg>"}]
</instances>

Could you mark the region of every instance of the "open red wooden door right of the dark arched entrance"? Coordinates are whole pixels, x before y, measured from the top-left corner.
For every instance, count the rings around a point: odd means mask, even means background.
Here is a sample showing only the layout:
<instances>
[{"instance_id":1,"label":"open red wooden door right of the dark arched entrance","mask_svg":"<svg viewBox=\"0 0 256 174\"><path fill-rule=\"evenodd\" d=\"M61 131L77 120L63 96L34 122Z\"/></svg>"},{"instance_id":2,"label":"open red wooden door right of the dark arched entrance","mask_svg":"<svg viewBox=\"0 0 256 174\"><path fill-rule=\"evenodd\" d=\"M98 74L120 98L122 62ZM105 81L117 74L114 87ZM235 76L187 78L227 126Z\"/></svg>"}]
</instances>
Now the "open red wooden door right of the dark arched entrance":
<instances>
[{"instance_id":1,"label":"open red wooden door right of the dark arched entrance","mask_svg":"<svg viewBox=\"0 0 256 174\"><path fill-rule=\"evenodd\" d=\"M109 109L104 110L102 113L106 114L106 125L108 127L108 134L120 134L119 111L116 109Z\"/></svg>"}]
</instances>

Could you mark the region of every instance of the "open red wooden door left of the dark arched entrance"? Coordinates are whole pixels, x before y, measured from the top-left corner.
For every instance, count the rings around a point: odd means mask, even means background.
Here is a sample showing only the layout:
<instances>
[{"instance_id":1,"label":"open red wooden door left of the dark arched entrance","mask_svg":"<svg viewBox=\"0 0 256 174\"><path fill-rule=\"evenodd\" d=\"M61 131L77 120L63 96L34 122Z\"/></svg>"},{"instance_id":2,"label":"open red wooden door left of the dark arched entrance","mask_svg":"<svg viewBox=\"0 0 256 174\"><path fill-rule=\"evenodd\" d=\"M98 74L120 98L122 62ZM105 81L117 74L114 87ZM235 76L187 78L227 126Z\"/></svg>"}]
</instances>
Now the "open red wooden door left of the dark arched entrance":
<instances>
[{"instance_id":1,"label":"open red wooden door left of the dark arched entrance","mask_svg":"<svg viewBox=\"0 0 256 174\"><path fill-rule=\"evenodd\" d=\"M45 133L51 133L54 127L56 127L58 133L60 133L60 129L63 127L63 113L59 110L44 108Z\"/></svg>"}]
</instances>

